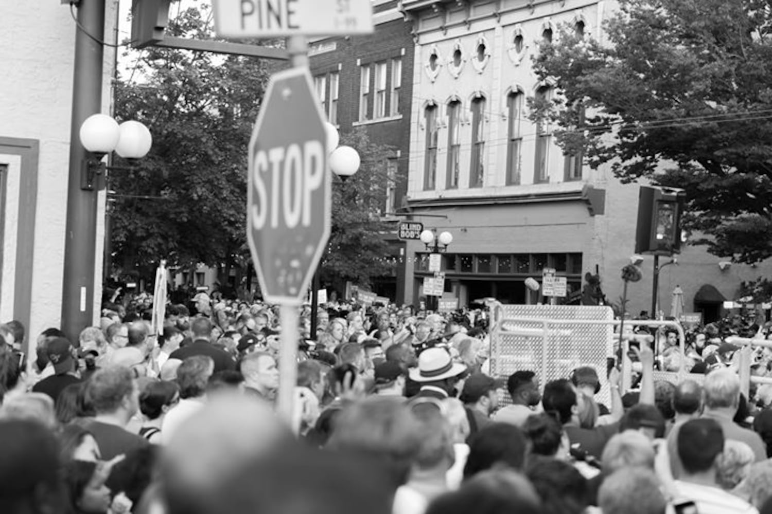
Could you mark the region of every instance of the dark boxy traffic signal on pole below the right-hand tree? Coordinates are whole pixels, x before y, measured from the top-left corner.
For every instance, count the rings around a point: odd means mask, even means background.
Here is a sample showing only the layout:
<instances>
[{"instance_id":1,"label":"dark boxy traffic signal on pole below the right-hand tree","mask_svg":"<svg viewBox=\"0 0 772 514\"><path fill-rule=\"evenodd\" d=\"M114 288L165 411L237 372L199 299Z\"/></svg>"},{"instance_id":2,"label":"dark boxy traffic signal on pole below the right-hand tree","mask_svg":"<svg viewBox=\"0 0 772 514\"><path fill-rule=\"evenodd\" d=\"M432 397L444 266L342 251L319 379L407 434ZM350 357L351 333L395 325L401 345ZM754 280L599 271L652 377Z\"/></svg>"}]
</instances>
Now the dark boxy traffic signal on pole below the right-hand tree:
<instances>
[{"instance_id":1,"label":"dark boxy traffic signal on pole below the right-hand tree","mask_svg":"<svg viewBox=\"0 0 772 514\"><path fill-rule=\"evenodd\" d=\"M681 252L681 215L685 203L684 190L641 186L635 231L636 254L672 255Z\"/></svg>"}]
</instances>

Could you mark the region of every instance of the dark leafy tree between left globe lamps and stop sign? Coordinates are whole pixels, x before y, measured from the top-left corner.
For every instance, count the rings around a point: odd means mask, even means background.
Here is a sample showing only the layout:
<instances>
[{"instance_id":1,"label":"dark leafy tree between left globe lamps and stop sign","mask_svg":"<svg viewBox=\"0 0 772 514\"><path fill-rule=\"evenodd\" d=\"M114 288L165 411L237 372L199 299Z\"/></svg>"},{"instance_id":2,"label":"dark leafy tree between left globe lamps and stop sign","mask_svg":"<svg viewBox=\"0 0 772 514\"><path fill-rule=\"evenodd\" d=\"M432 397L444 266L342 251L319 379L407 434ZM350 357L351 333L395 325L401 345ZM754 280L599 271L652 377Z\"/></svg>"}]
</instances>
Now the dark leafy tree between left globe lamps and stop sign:
<instances>
[{"instance_id":1,"label":"dark leafy tree between left globe lamps and stop sign","mask_svg":"<svg viewBox=\"0 0 772 514\"><path fill-rule=\"evenodd\" d=\"M168 33L206 39L205 15L188 8ZM120 77L116 117L145 123L153 146L134 170L110 174L117 268L147 274L165 258L227 276L245 265L247 146L269 72L260 59L150 48Z\"/></svg>"}]
</instances>

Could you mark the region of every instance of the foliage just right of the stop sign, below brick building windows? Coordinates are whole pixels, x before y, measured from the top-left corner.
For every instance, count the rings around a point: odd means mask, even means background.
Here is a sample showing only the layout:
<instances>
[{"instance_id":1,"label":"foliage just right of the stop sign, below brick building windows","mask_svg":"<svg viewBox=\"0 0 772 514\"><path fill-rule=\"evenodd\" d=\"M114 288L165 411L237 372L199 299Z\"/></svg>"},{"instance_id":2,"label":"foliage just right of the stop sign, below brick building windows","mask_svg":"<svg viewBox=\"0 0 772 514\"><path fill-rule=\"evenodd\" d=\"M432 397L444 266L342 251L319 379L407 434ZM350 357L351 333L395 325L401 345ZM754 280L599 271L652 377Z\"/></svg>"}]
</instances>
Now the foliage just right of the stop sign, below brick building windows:
<instances>
[{"instance_id":1,"label":"foliage just right of the stop sign, below brick building windows","mask_svg":"<svg viewBox=\"0 0 772 514\"><path fill-rule=\"evenodd\" d=\"M356 149L362 162L354 176L345 181L334 178L332 230L322 259L322 280L366 287L372 277L391 270L384 260L388 254L384 235L390 228L381 214L386 190L398 176L388 176L388 146L373 143L364 128L341 134L340 144Z\"/></svg>"}]
</instances>

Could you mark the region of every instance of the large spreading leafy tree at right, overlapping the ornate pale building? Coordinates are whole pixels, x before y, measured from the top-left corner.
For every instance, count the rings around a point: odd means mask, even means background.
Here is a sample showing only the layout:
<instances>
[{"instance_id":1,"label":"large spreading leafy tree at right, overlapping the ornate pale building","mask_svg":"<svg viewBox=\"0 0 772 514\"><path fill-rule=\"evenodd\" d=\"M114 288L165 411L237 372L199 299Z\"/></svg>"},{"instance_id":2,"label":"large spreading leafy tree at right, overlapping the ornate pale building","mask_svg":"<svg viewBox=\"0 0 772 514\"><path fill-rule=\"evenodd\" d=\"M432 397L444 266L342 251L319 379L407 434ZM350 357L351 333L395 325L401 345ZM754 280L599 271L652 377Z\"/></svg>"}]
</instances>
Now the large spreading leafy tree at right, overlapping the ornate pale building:
<instances>
[{"instance_id":1,"label":"large spreading leafy tree at right, overlapping the ornate pale building","mask_svg":"<svg viewBox=\"0 0 772 514\"><path fill-rule=\"evenodd\" d=\"M568 154L623 182L686 190L712 254L772 256L772 12L764 0L620 0L608 41L573 28L534 66L560 95L532 102Z\"/></svg>"}]
</instances>

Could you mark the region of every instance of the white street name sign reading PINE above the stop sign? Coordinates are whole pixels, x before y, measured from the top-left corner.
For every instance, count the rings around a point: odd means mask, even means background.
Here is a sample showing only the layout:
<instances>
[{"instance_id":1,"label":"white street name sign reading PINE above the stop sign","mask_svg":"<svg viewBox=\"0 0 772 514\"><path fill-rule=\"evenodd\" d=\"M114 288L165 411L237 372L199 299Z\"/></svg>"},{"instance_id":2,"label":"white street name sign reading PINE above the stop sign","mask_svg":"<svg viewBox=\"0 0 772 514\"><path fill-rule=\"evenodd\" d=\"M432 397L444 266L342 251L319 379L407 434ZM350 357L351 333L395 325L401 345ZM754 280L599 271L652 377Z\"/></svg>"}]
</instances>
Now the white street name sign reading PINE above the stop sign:
<instances>
[{"instance_id":1,"label":"white street name sign reading PINE above the stop sign","mask_svg":"<svg viewBox=\"0 0 772 514\"><path fill-rule=\"evenodd\" d=\"M373 32L371 0L212 0L221 38Z\"/></svg>"}]
</instances>

